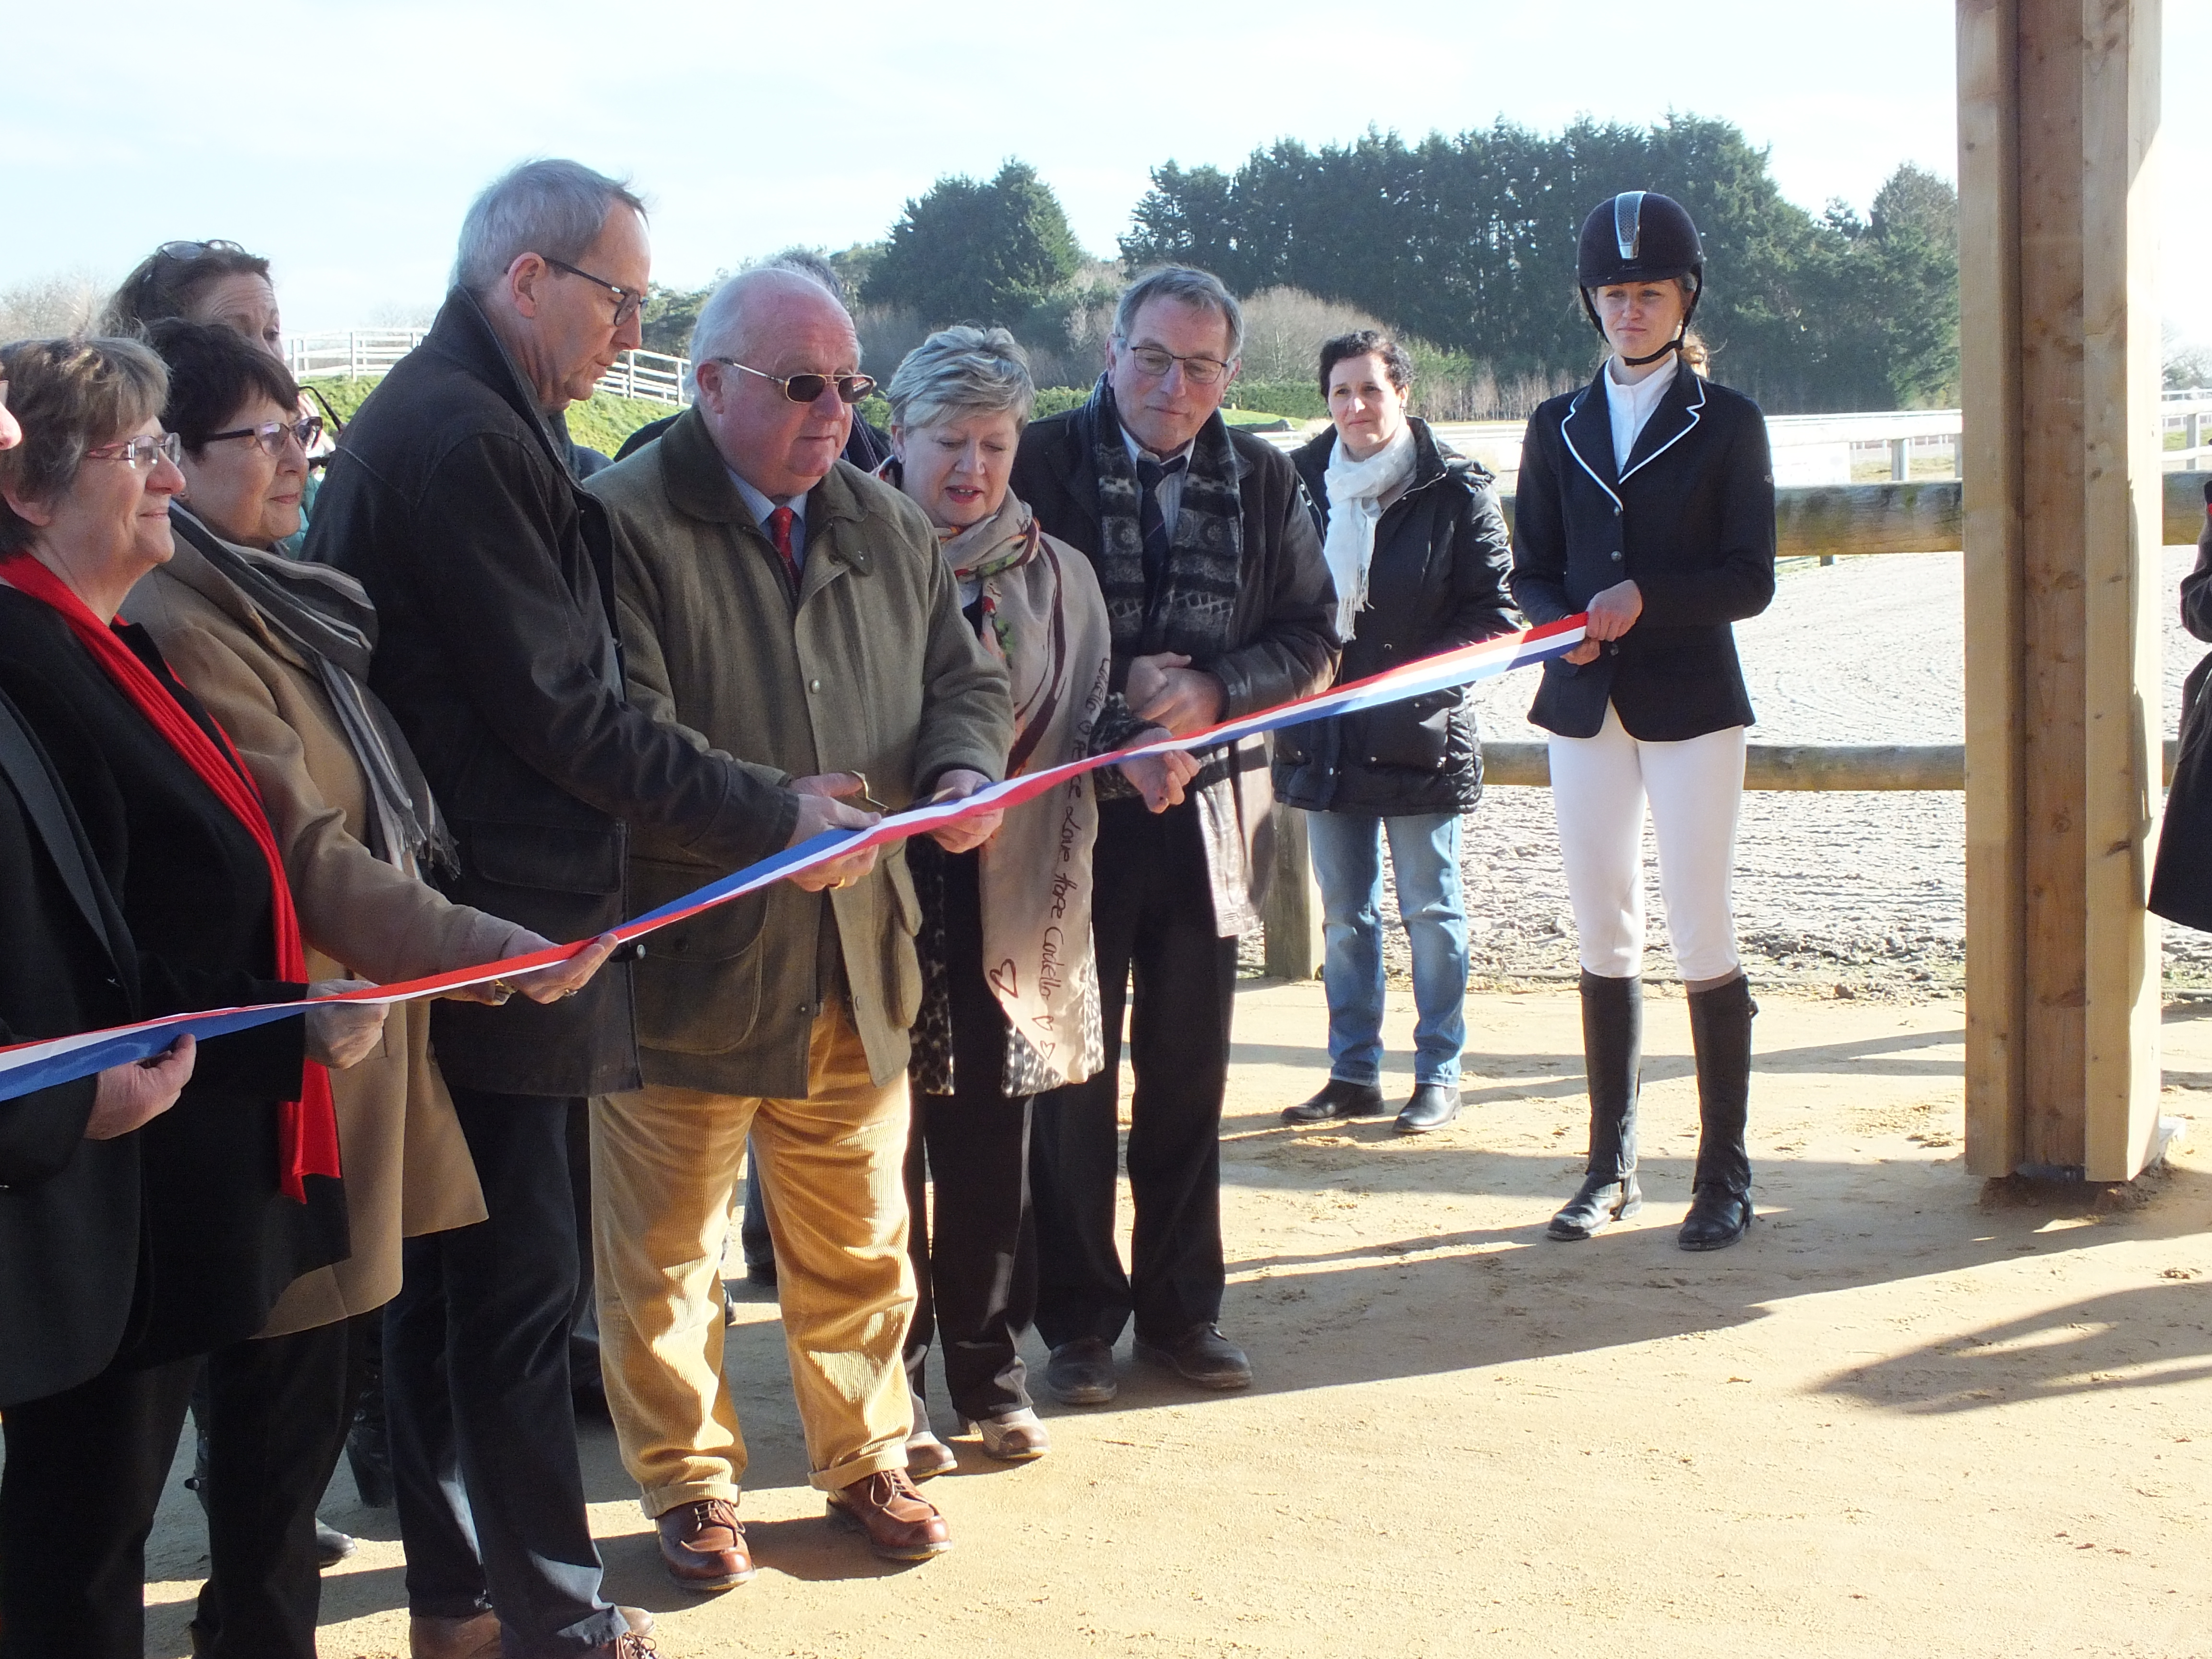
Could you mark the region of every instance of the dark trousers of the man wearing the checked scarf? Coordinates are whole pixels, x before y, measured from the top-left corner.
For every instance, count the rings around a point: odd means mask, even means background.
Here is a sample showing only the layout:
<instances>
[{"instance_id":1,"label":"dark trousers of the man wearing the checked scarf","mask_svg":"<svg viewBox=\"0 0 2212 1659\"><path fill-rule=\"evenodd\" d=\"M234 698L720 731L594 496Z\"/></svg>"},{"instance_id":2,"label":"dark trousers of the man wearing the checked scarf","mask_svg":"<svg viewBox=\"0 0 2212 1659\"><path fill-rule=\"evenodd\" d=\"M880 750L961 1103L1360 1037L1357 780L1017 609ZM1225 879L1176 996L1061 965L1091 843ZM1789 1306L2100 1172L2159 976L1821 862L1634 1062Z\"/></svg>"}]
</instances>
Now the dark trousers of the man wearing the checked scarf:
<instances>
[{"instance_id":1,"label":"dark trousers of the man wearing the checked scarf","mask_svg":"<svg viewBox=\"0 0 2212 1659\"><path fill-rule=\"evenodd\" d=\"M1037 1206L1037 1332L1051 1347L1113 1343L1130 1314L1148 1343L1221 1318L1221 1095L1230 1071L1237 940L1217 938L1199 812L1099 805L1091 883L1106 1066L1037 1095L1031 1181ZM1130 1267L1115 1248L1115 1106L1121 1009L1137 1071L1128 1186Z\"/></svg>"}]
</instances>

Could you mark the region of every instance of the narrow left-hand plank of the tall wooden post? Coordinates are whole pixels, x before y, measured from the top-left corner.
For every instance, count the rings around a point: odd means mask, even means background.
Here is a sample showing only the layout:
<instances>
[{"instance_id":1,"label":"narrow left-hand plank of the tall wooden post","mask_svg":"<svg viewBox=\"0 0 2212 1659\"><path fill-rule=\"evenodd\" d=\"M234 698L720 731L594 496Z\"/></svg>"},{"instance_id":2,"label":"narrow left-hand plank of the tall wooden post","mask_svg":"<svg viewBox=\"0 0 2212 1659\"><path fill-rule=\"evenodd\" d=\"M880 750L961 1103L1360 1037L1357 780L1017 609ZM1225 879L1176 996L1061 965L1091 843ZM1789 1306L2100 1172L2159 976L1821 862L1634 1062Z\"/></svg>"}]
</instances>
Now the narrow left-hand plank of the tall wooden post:
<instances>
[{"instance_id":1,"label":"narrow left-hand plank of the tall wooden post","mask_svg":"<svg viewBox=\"0 0 2212 1659\"><path fill-rule=\"evenodd\" d=\"M1966 1168L2011 1175L2022 1053L2017 0L1958 0L1958 290L1966 551Z\"/></svg>"}]
</instances>

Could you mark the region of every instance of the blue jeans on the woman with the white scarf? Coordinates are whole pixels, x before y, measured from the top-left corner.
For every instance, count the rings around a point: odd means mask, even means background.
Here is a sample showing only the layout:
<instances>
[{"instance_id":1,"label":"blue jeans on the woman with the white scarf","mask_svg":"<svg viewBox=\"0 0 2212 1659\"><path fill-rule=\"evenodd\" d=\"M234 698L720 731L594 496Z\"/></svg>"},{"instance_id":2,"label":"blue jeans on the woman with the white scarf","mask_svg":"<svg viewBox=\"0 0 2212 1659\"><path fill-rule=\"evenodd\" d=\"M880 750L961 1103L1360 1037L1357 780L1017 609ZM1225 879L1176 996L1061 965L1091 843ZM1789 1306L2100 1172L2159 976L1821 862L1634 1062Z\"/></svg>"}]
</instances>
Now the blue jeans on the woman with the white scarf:
<instances>
[{"instance_id":1,"label":"blue jeans on the woman with the white scarf","mask_svg":"<svg viewBox=\"0 0 2212 1659\"><path fill-rule=\"evenodd\" d=\"M1329 1075L1383 1075L1383 836L1398 878L1398 914L1413 947L1413 1082L1460 1082L1467 1046L1467 911L1460 905L1460 818L1425 812L1378 818L1307 814L1327 956Z\"/></svg>"}]
</instances>

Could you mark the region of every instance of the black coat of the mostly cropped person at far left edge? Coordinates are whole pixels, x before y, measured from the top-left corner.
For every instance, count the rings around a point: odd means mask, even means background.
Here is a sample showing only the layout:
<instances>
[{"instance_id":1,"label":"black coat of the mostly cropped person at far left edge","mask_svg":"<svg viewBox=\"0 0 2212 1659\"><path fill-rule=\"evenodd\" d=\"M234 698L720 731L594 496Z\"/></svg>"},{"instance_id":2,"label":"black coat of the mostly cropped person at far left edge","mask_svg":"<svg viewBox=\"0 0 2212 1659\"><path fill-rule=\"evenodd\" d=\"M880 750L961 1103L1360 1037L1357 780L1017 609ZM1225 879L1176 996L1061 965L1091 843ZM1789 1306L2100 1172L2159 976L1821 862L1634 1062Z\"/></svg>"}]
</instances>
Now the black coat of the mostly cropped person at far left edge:
<instances>
[{"instance_id":1,"label":"black coat of the mostly cropped person at far left edge","mask_svg":"<svg viewBox=\"0 0 2212 1659\"><path fill-rule=\"evenodd\" d=\"M0 1042L137 1018L137 949L69 796L0 697ZM84 1139L93 1077L0 1102L0 1409L106 1369L139 1263L139 1139Z\"/></svg>"}]
</instances>

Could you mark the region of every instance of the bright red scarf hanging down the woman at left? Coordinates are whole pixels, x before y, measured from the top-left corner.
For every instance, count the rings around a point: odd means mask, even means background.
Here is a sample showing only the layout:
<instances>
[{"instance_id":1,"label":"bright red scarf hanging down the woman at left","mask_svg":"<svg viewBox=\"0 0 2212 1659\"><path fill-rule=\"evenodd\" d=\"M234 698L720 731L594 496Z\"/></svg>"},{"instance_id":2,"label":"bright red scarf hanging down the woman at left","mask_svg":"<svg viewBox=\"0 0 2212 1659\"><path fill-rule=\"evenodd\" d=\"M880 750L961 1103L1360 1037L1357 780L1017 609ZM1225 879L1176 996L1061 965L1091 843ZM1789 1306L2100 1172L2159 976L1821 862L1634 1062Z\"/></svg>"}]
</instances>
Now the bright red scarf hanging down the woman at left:
<instances>
[{"instance_id":1,"label":"bright red scarf hanging down the woman at left","mask_svg":"<svg viewBox=\"0 0 2212 1659\"><path fill-rule=\"evenodd\" d=\"M276 832L270 830L268 812L261 807L261 790L254 787L246 763L230 745L230 737L215 726L223 745L217 748L199 721L184 712L155 672L137 659L137 653L122 641L113 626L102 626L100 617L80 599L69 584L40 564L29 553L0 557L0 577L62 613L62 622L77 635L77 641L93 653L93 661L106 670L124 697L139 714L168 739L168 745L184 757L186 765L199 774L215 799L230 807L232 816L246 825L246 834L261 847L261 858L270 869L270 900L276 922L276 978L296 984L307 982L307 951L299 940L299 911L292 907L292 883L283 874L283 854L276 852ZM276 1177L285 1197L305 1203L307 1175L338 1172L338 1117L330 1104L330 1073L312 1060L301 1066L299 1099L288 1099L276 1108Z\"/></svg>"}]
</instances>

